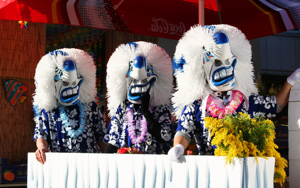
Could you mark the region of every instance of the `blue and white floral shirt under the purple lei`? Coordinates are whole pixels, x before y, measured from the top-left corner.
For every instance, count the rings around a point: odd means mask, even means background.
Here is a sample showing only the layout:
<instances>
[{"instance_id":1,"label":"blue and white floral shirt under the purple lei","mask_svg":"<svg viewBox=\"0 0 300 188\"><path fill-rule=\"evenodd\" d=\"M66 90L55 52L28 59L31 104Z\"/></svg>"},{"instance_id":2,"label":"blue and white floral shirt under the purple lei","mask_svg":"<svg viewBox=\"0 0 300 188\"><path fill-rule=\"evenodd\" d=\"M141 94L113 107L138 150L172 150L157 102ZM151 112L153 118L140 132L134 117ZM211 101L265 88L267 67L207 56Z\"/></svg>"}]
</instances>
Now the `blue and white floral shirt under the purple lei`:
<instances>
[{"instance_id":1,"label":"blue and white floral shirt under the purple lei","mask_svg":"<svg viewBox=\"0 0 300 188\"><path fill-rule=\"evenodd\" d=\"M121 106L119 106L118 110L115 112L115 115L111 119L103 142L110 143L118 148L125 146L138 148L144 154L167 154L170 150L171 139L165 143L158 143L154 136L146 132L147 136L145 136L145 141L137 144L131 142L127 130L127 112L130 109L133 109L133 120L135 120L136 131L139 131L140 120L142 119L141 108L136 112L133 104L126 101L122 105L122 108ZM152 110L152 116L154 117L155 121L157 121L161 125L162 137L164 136L164 134L170 134L172 138L172 133L175 128L172 127L173 124L171 122L170 110L166 105L158 106L156 108L153 108ZM150 145L146 144L146 139L151 140Z\"/></svg>"}]
</instances>

